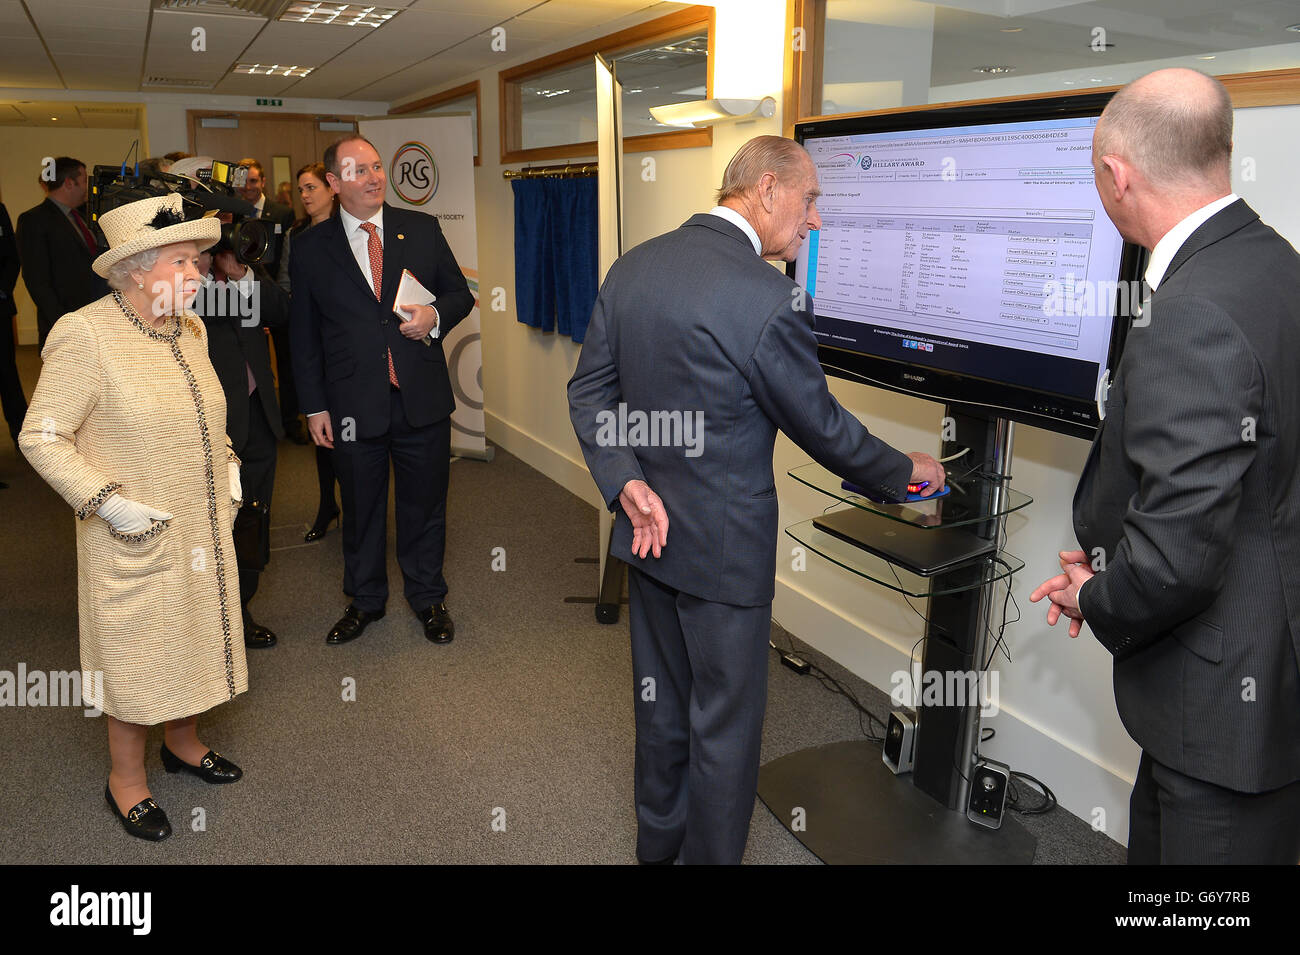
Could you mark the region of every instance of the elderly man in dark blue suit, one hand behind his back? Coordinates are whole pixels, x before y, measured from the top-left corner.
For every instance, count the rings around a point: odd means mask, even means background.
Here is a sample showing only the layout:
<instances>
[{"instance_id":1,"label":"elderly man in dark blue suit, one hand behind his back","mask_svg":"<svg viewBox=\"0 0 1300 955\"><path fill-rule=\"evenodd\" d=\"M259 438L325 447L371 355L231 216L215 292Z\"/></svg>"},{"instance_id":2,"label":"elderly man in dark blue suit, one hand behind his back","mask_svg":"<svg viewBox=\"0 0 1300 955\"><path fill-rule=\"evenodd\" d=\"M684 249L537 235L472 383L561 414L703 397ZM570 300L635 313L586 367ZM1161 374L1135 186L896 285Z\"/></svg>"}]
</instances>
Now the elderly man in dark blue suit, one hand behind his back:
<instances>
[{"instance_id":1,"label":"elderly man in dark blue suit, one hand behind his back","mask_svg":"<svg viewBox=\"0 0 1300 955\"><path fill-rule=\"evenodd\" d=\"M820 226L819 195L802 147L751 139L711 213L610 269L569 382L573 429L616 512L611 554L629 564L644 863L738 863L745 850L767 704L776 431L888 498L914 479L942 486L932 457L893 450L831 396L807 295L763 261L794 260ZM670 433L611 427L638 413Z\"/></svg>"}]
</instances>

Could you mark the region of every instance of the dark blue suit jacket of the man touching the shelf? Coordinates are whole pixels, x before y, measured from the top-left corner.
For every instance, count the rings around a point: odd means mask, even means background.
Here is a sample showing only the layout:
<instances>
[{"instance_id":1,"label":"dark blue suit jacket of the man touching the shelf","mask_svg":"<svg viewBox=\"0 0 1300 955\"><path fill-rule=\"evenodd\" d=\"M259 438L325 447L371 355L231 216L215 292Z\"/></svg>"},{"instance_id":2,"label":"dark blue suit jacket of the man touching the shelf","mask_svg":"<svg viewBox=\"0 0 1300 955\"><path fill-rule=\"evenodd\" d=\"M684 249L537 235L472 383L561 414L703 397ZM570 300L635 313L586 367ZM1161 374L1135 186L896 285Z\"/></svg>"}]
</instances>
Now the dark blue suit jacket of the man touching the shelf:
<instances>
[{"instance_id":1,"label":"dark blue suit jacket of the man touching the shelf","mask_svg":"<svg viewBox=\"0 0 1300 955\"><path fill-rule=\"evenodd\" d=\"M836 474L894 499L911 477L910 459L868 434L827 390L811 301L738 227L707 213L614 264L568 395L592 477L616 513L611 552L706 600L758 607L772 599L777 429ZM601 426L620 403L629 416L702 412L699 453L646 446L630 427L628 440L611 442ZM632 525L619 505L632 479L645 481L668 512L668 546L658 559L632 556Z\"/></svg>"}]
</instances>

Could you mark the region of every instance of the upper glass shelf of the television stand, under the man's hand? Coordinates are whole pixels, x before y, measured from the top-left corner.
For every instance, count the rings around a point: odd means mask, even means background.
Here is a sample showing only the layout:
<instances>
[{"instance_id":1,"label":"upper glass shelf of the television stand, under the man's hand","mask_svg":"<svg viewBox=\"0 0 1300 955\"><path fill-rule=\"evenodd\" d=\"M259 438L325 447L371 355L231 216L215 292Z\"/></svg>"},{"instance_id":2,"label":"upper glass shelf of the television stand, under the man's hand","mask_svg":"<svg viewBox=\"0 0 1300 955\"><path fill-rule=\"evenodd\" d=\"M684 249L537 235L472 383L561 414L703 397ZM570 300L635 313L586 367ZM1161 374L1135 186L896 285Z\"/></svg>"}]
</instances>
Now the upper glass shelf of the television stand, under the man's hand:
<instances>
[{"instance_id":1,"label":"upper glass shelf of the television stand, under the man's hand","mask_svg":"<svg viewBox=\"0 0 1300 955\"><path fill-rule=\"evenodd\" d=\"M1005 481L983 474L962 478L949 476L948 485L952 487L952 492L933 500L906 504L881 504L845 490L841 479L820 464L802 464L798 468L790 468L786 474L845 504L871 511L892 521L926 529L983 524L1034 503L1030 495L1017 491Z\"/></svg>"}]
</instances>

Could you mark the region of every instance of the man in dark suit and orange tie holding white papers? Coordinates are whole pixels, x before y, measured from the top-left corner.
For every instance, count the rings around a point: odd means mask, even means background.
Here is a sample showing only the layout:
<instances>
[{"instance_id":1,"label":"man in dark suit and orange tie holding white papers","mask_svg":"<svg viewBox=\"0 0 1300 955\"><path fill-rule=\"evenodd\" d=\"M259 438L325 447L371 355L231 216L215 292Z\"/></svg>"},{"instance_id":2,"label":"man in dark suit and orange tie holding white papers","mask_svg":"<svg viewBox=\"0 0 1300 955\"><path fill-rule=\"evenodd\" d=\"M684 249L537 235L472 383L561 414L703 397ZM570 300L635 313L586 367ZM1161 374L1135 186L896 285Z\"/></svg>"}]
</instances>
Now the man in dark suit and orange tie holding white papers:
<instances>
[{"instance_id":1,"label":"man in dark suit and orange tie holding white papers","mask_svg":"<svg viewBox=\"0 0 1300 955\"><path fill-rule=\"evenodd\" d=\"M369 140L325 151L339 210L294 239L289 273L298 392L312 440L334 450L343 498L343 591L352 598L326 643L384 616L389 461L406 598L434 643L452 639L446 543L451 412L442 340L473 296L438 220L385 204L384 161ZM437 300L394 313L402 272ZM433 333L437 331L437 337Z\"/></svg>"}]
</instances>

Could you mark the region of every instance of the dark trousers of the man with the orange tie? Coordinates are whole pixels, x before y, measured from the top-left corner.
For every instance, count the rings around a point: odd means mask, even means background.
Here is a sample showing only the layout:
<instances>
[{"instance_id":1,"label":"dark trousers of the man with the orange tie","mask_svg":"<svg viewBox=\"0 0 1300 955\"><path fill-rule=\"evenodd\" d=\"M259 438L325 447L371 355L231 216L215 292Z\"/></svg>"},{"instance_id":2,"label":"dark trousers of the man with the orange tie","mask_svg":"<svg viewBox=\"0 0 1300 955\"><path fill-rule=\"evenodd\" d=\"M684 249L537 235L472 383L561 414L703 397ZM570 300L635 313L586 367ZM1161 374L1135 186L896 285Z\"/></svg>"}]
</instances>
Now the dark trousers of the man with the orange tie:
<instances>
[{"instance_id":1,"label":"dark trousers of the man with the orange tie","mask_svg":"<svg viewBox=\"0 0 1300 955\"><path fill-rule=\"evenodd\" d=\"M343 592L378 613L389 599L389 461L396 500L398 565L406 599L420 612L447 595L442 559L447 537L451 417L425 427L406 420L402 392L391 391L389 433L342 440L334 427L334 472L343 499Z\"/></svg>"}]
</instances>

